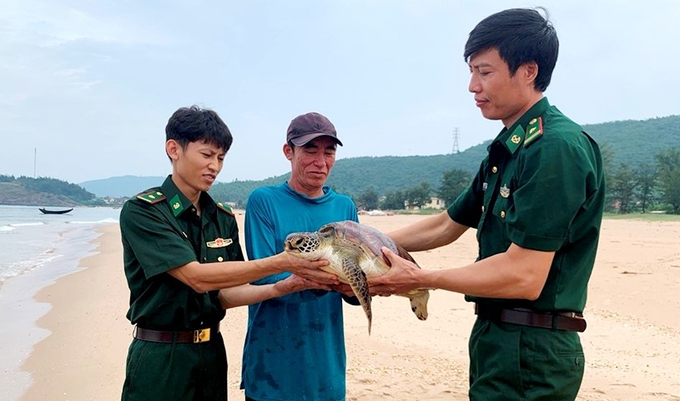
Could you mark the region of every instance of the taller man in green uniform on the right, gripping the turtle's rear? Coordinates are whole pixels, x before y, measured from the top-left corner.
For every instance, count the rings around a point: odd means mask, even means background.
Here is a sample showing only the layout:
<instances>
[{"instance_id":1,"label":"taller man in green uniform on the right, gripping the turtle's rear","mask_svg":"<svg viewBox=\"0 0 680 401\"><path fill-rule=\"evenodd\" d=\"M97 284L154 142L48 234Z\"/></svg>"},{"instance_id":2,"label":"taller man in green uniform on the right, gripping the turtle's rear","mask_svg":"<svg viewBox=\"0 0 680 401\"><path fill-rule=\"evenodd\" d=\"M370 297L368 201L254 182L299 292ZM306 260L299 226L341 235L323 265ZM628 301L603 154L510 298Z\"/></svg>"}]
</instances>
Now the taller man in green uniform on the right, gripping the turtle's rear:
<instances>
[{"instance_id":1,"label":"taller man in green uniform on the right, gripping the turtle's rear","mask_svg":"<svg viewBox=\"0 0 680 401\"><path fill-rule=\"evenodd\" d=\"M578 332L604 202L602 159L581 127L543 97L557 61L553 26L536 10L481 21L464 58L482 115L504 128L470 186L446 212L390 233L409 251L477 229L475 263L420 270L386 248L393 268L376 294L417 287L475 303L471 400L574 400L583 377Z\"/></svg>"}]
</instances>

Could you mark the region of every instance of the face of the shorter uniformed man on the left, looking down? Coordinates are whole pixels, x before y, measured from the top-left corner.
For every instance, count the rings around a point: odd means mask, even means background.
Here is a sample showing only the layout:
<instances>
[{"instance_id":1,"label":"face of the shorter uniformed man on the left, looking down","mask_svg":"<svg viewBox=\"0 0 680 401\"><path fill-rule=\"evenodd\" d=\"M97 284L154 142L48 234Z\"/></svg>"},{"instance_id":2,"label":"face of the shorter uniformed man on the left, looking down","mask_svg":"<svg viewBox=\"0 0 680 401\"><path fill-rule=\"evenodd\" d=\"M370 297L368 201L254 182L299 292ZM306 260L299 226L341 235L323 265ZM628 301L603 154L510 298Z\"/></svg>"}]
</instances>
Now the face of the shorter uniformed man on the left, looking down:
<instances>
[{"instance_id":1,"label":"face of the shorter uniformed man on the left, looking down","mask_svg":"<svg viewBox=\"0 0 680 401\"><path fill-rule=\"evenodd\" d=\"M176 144L168 154L173 160L173 181L187 196L210 189L226 155L223 149L205 142L190 142L185 149Z\"/></svg>"}]
</instances>

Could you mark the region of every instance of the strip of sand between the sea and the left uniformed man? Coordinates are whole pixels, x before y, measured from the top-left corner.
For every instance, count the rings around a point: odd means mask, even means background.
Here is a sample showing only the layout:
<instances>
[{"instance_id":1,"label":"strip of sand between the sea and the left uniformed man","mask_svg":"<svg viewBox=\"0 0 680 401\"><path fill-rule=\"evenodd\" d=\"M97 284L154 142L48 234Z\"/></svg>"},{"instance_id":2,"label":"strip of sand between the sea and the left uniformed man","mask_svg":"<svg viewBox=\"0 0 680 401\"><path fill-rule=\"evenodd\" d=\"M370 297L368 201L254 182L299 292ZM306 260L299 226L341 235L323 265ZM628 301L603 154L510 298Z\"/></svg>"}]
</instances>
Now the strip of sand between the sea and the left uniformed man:
<instances>
[{"instance_id":1,"label":"strip of sand between the sea and the left uniformed man","mask_svg":"<svg viewBox=\"0 0 680 401\"><path fill-rule=\"evenodd\" d=\"M112 384L122 386L132 326L125 319L120 234L117 224L95 231L99 235L92 240L94 254L80 259L79 270L35 294L36 302L52 305L36 322L51 334L35 345L22 365L33 383L20 400L109 399L102 395ZM105 271L111 268L117 274Z\"/></svg>"}]
</instances>

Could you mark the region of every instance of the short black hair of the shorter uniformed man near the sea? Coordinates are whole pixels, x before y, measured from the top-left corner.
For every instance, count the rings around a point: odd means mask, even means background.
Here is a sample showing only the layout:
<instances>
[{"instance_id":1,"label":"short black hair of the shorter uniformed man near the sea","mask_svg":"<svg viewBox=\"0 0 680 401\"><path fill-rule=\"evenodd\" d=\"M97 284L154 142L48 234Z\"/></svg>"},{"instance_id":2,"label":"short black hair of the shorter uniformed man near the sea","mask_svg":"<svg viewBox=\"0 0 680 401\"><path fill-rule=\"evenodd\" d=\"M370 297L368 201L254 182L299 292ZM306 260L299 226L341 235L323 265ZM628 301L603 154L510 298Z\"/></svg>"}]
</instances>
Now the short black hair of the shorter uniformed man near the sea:
<instances>
[{"instance_id":1,"label":"short black hair of the shorter uniformed man near the sea","mask_svg":"<svg viewBox=\"0 0 680 401\"><path fill-rule=\"evenodd\" d=\"M165 140L174 139L183 149L191 142L205 142L228 152L233 138L216 112L196 105L175 111L165 126Z\"/></svg>"}]
</instances>

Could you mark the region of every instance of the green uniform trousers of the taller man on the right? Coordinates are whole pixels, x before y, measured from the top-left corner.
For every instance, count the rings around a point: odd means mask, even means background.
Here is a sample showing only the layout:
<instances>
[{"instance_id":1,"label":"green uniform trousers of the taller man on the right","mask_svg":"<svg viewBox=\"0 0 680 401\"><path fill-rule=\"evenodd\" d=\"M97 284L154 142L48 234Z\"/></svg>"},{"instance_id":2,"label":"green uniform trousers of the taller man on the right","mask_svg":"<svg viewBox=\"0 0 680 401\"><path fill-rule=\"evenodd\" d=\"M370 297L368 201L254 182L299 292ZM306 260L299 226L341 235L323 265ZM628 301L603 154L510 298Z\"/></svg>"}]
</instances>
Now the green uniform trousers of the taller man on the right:
<instances>
[{"instance_id":1,"label":"green uniform trousers of the taller man on the right","mask_svg":"<svg viewBox=\"0 0 680 401\"><path fill-rule=\"evenodd\" d=\"M470 400L573 401L585 359L578 333L477 319Z\"/></svg>"}]
</instances>

